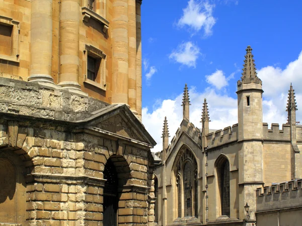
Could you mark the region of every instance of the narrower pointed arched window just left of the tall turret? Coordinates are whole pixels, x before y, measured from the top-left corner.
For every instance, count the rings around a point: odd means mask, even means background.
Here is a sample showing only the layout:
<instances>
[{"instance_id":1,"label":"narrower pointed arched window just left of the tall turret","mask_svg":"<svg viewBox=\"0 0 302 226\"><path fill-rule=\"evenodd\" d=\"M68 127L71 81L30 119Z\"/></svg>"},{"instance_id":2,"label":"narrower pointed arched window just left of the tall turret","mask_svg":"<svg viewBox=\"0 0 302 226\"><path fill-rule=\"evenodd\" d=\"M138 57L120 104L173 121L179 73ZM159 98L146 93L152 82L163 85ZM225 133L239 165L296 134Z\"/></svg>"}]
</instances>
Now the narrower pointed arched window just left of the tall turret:
<instances>
[{"instance_id":1,"label":"narrower pointed arched window just left of the tall turret","mask_svg":"<svg viewBox=\"0 0 302 226\"><path fill-rule=\"evenodd\" d=\"M216 161L221 215L230 217L230 163L226 157Z\"/></svg>"}]
</instances>

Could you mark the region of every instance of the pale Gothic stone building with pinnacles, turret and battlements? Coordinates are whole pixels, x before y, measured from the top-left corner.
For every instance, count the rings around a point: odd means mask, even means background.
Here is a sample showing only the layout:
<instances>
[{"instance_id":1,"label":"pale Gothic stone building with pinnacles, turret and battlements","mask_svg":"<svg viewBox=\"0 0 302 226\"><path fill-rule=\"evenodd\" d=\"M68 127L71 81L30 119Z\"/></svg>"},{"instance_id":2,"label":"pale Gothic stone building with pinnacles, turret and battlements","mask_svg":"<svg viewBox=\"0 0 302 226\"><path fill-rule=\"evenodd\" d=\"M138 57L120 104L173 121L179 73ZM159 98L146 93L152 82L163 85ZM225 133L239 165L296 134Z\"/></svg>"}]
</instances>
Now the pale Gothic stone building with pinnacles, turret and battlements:
<instances>
[{"instance_id":1,"label":"pale Gothic stone building with pinnacles, turret and battlements","mask_svg":"<svg viewBox=\"0 0 302 226\"><path fill-rule=\"evenodd\" d=\"M302 128L294 90L290 85L287 123L269 129L262 121L262 81L252 48L246 51L237 82L238 124L210 130L204 99L202 129L195 127L187 85L183 121L170 144L165 118L163 151L156 153L162 162L154 168L159 225L301 225Z\"/></svg>"}]
</instances>

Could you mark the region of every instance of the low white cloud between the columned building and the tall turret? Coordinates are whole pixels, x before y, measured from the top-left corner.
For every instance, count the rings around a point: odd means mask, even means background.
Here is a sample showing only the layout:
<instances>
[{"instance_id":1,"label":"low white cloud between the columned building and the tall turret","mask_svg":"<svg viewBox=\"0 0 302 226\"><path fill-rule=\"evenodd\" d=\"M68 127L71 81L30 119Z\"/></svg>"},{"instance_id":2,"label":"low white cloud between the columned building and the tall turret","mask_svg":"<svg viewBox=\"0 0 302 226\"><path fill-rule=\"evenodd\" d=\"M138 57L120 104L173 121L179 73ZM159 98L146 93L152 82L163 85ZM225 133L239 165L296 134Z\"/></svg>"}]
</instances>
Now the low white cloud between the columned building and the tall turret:
<instances>
[{"instance_id":1,"label":"low white cloud between the columned building and the tall turret","mask_svg":"<svg viewBox=\"0 0 302 226\"><path fill-rule=\"evenodd\" d=\"M221 129L237 123L237 99L227 95L217 94L213 89L206 88L204 92L198 93L195 88L189 90L190 100L190 122L195 127L200 128L200 118L202 112L203 99L207 98L209 105L209 114L211 118L210 127ZM182 96L179 94L175 99L166 99L162 101L153 111L144 107L142 109L142 122L146 130L156 140L158 145L152 151L162 150L162 128L165 116L167 116L170 131L170 141L175 135L177 128L182 121Z\"/></svg>"}]
</instances>

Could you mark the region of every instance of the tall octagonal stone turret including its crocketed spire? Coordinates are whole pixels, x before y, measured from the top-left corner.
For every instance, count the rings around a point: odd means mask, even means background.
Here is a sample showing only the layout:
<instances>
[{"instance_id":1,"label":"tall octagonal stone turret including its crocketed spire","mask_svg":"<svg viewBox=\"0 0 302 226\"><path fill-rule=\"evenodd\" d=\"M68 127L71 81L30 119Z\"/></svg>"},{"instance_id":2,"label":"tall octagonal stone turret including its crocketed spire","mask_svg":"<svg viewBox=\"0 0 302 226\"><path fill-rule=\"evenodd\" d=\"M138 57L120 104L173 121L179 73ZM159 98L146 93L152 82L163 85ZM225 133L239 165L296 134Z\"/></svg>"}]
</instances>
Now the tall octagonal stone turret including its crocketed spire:
<instances>
[{"instance_id":1,"label":"tall octagonal stone turret including its crocketed spire","mask_svg":"<svg viewBox=\"0 0 302 226\"><path fill-rule=\"evenodd\" d=\"M256 206L256 196L251 195L257 186L263 183L262 158L262 81L258 78L251 46L246 49L241 80L237 82L238 95L238 142L239 184L243 189L240 195L240 206L248 203ZM241 207L243 207L241 206ZM246 214L240 207L240 216ZM251 209L254 213L255 210ZM253 219L255 215L251 215Z\"/></svg>"}]
</instances>

